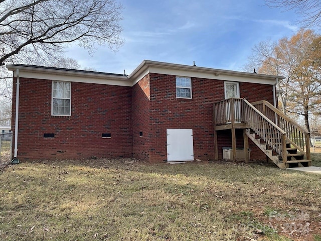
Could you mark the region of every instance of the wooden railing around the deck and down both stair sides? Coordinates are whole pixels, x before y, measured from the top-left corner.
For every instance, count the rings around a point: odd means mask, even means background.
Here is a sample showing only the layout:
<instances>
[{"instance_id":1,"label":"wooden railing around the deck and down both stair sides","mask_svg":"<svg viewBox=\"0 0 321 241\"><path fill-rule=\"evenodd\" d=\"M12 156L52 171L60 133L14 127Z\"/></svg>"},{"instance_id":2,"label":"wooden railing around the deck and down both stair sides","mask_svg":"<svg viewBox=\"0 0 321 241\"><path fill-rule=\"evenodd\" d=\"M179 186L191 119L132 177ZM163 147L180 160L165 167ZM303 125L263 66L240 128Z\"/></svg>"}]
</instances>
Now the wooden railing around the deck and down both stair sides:
<instances>
[{"instance_id":1,"label":"wooden railing around the deck and down both stair sides","mask_svg":"<svg viewBox=\"0 0 321 241\"><path fill-rule=\"evenodd\" d=\"M309 132L266 100L248 102L230 98L213 104L214 125L244 123L266 142L284 161L290 143L311 160Z\"/></svg>"}]
</instances>

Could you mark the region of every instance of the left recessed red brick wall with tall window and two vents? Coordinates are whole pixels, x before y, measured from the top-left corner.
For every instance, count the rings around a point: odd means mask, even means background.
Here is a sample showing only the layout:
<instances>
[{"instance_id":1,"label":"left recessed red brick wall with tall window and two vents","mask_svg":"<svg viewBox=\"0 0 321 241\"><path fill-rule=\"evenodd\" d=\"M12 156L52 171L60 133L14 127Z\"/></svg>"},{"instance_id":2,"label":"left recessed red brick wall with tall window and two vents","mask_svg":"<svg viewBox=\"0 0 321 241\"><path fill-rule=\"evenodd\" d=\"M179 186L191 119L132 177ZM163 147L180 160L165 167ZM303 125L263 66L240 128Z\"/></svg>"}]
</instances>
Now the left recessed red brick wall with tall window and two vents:
<instances>
[{"instance_id":1,"label":"left recessed red brick wall with tall window and two vents","mask_svg":"<svg viewBox=\"0 0 321 241\"><path fill-rule=\"evenodd\" d=\"M131 87L72 82L71 116L51 116L51 85L20 78L20 160L132 156ZM15 127L15 84L13 93Z\"/></svg>"}]
</instances>

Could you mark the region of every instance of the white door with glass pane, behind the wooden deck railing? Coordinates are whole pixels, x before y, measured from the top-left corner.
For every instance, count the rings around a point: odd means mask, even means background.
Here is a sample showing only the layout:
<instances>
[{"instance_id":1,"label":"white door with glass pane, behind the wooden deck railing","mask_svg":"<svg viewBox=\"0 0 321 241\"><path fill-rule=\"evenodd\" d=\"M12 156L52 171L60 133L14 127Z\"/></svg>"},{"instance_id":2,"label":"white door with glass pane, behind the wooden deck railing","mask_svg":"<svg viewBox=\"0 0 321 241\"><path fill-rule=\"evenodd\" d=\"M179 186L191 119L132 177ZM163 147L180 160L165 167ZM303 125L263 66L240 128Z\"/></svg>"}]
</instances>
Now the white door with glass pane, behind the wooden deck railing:
<instances>
[{"instance_id":1,"label":"white door with glass pane, behind the wooden deck railing","mask_svg":"<svg viewBox=\"0 0 321 241\"><path fill-rule=\"evenodd\" d=\"M240 88L238 82L224 82L224 93L225 99L229 98L239 98L240 97ZM226 105L226 119L227 122L231 122L231 107L229 104ZM234 103L234 117L236 122L241 119L240 103Z\"/></svg>"}]
</instances>

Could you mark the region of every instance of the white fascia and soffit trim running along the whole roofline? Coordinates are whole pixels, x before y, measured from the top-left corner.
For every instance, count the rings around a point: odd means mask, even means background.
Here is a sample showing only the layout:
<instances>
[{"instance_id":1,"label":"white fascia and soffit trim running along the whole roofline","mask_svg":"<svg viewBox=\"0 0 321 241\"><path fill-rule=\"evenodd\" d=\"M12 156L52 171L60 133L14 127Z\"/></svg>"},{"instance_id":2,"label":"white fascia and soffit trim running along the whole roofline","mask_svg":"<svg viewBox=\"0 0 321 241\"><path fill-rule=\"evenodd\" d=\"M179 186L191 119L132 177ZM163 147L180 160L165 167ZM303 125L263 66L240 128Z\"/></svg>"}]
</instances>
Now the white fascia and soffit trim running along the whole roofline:
<instances>
[{"instance_id":1,"label":"white fascia and soffit trim running along the whole roofline","mask_svg":"<svg viewBox=\"0 0 321 241\"><path fill-rule=\"evenodd\" d=\"M133 86L148 73L170 74L213 80L233 82L250 82L274 85L276 79L284 79L282 76L246 73L231 70L213 69L198 66L172 64L151 60L142 61L128 76L112 75L95 72L77 72L63 69L48 69L32 66L8 65L9 70L20 70L20 77L48 79L58 81L97 83L119 86Z\"/></svg>"}]
</instances>

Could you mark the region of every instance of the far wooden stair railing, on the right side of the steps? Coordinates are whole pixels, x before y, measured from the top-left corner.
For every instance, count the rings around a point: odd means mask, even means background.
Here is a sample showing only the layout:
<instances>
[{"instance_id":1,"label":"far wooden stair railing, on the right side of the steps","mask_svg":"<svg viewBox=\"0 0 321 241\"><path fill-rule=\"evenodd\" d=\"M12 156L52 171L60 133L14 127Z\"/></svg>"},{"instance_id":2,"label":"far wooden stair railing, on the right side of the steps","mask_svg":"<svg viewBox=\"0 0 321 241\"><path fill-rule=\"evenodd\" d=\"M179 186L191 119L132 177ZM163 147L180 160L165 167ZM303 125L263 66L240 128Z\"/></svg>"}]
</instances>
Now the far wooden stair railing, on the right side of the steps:
<instances>
[{"instance_id":1,"label":"far wooden stair railing, on the right side of the steps","mask_svg":"<svg viewBox=\"0 0 321 241\"><path fill-rule=\"evenodd\" d=\"M305 153L306 160L311 160L310 136L307 130L300 127L266 100L256 101L252 103L252 105L267 116L280 129L284 130L288 142L299 152Z\"/></svg>"}]
</instances>

